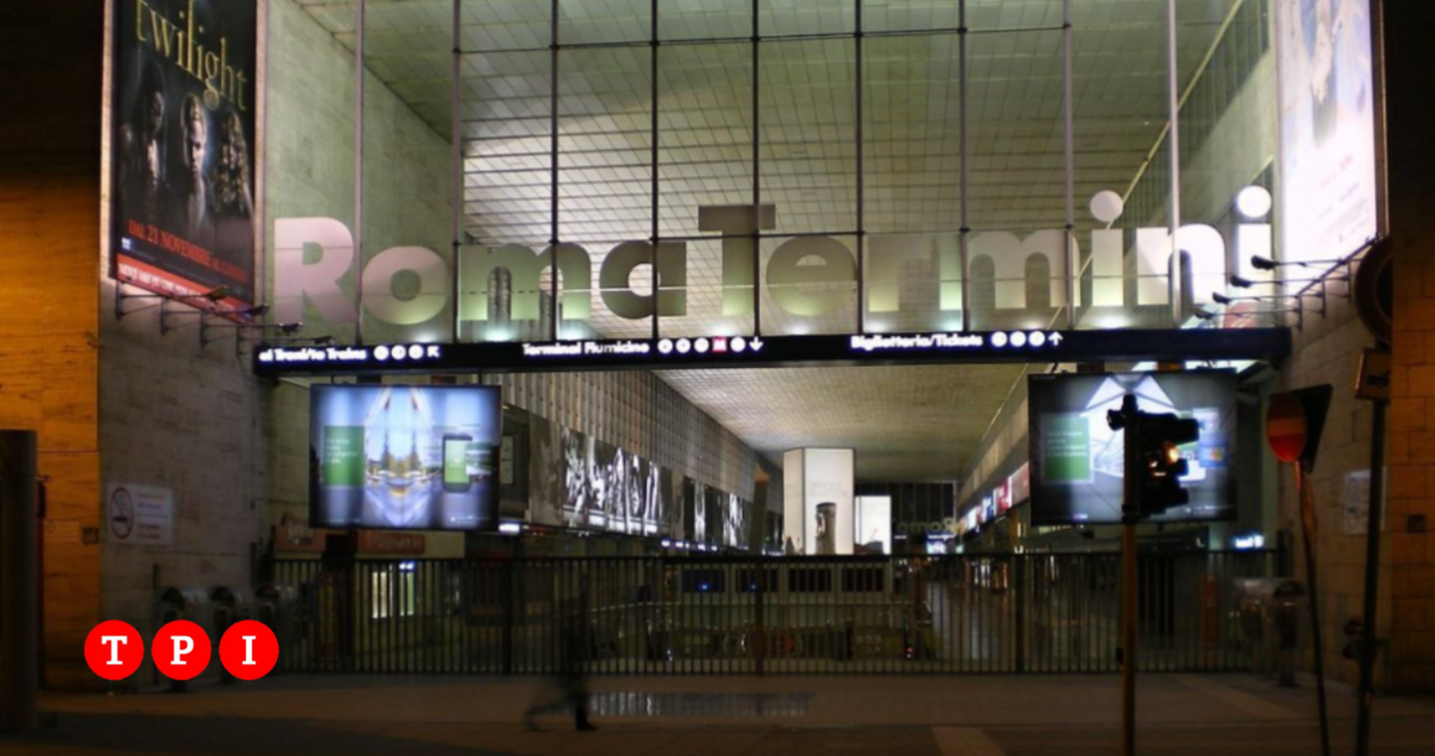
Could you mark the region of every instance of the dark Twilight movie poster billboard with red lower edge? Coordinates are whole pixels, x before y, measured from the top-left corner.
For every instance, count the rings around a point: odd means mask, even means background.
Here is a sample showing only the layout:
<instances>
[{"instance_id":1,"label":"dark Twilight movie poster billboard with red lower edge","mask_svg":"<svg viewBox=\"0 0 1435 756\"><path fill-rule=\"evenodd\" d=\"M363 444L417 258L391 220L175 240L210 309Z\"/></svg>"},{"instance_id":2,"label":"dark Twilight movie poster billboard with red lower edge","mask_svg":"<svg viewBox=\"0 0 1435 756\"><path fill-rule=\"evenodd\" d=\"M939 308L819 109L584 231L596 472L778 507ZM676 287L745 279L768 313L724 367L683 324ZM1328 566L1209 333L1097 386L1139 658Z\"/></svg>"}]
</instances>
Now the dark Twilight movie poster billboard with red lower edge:
<instances>
[{"instance_id":1,"label":"dark Twilight movie poster billboard with red lower edge","mask_svg":"<svg viewBox=\"0 0 1435 756\"><path fill-rule=\"evenodd\" d=\"M115 7L110 275L253 304L255 3Z\"/></svg>"}]
</instances>

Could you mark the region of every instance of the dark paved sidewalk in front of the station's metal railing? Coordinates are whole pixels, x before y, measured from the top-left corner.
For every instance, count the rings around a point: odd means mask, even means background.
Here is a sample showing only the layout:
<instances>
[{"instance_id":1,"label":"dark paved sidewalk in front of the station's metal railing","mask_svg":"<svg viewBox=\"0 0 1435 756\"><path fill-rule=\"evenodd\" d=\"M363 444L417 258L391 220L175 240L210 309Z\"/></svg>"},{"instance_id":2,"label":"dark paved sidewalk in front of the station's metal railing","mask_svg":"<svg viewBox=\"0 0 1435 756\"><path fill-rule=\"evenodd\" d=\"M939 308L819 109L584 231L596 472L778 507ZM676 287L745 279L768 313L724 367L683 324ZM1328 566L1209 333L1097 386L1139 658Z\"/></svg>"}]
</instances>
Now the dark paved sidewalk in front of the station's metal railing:
<instances>
[{"instance_id":1,"label":"dark paved sidewalk in front of the station's metal railing","mask_svg":"<svg viewBox=\"0 0 1435 756\"><path fill-rule=\"evenodd\" d=\"M57 726L0 736L0 756L277 755L953 755L1119 750L1115 676L596 679L596 733L519 717L535 679L274 677L191 694L43 699ZM1355 699L1330 694L1333 753ZM1144 676L1139 752L1319 753L1314 691L1244 674ZM1373 753L1435 755L1435 700L1376 701Z\"/></svg>"}]
</instances>

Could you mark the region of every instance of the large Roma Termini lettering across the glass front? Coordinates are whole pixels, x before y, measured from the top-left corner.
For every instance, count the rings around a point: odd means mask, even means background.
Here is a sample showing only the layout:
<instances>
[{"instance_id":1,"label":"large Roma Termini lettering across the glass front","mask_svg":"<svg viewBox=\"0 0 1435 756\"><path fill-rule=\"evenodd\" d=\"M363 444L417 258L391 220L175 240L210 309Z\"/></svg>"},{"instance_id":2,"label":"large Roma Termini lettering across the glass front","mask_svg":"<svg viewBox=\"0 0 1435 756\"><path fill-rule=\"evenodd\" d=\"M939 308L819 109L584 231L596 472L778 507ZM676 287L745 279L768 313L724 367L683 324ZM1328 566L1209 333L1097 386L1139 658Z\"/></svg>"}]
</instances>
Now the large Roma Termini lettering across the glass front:
<instances>
[{"instance_id":1,"label":"large Roma Termini lettering across the glass front","mask_svg":"<svg viewBox=\"0 0 1435 756\"><path fill-rule=\"evenodd\" d=\"M1267 201L1243 201L1241 207L1269 208L1269 194L1261 188L1243 189L1261 194ZM1098 224L1109 225L1122 214L1115 192L1092 198L1091 212ZM1248 261L1251 255L1271 257L1271 227L1261 209L1251 222L1236 225L1230 237L1205 224L1188 224L1175 234L1168 228L1098 228L1088 234L1068 235L1063 230L1013 234L1006 231L971 232L963 255L961 234L868 235L865 265L861 268L865 311L868 314L904 310L901 291L904 268L924 264L937 273L918 284L928 288L921 301L934 303L938 313L960 313L964 288L979 283L996 311L1035 311L1075 304L1082 308L1124 313L1138 306L1170 304L1170 263L1180 247L1187 261L1190 298L1195 304L1211 301L1224 291L1228 273L1254 281L1270 274L1246 268L1228 270L1231 251ZM753 314L756 278L752 250L752 207L699 208L699 230L720 240L720 297L712 311L693 311L689 303L689 267L686 241L624 241L603 251L594 283L593 251L580 244L557 244L535 250L521 244L497 247L458 247L456 265L426 247L390 247L366 255L357 284L356 254L349 227L334 218L280 218L274 222L273 303L281 321L306 320L324 329L353 327L360 317L412 331L412 340L455 341L453 327L465 329L502 317L505 321L535 321L544 307L541 290L550 270L558 273L558 304L564 321L588 321L594 307L624 320L659 317L730 317ZM763 205L756 215L763 228L775 225L775 208ZM1253 214L1254 215L1254 214ZM1081 238L1081 237L1085 237ZM1088 251L1082 250L1082 242ZM1128 244L1135 265L1128 271ZM851 307L858 281L858 264L851 248L837 237L794 237L763 254L766 267L762 283L773 306L788 316L818 317ZM1089 258L1089 260L1088 260ZM1081 264L1079 261L1088 260ZM630 285L633 273L656 261L659 293L651 287ZM456 271L456 273L455 273ZM502 314L495 316L492 280L507 274L501 294ZM1039 273L1038 273L1039 271ZM1072 275L1089 277L1088 285L1072 285ZM453 277L458 277L455 285ZM1040 275L1046 285L1030 285ZM963 281L967 281L964 285ZM594 285L597 284L597 285ZM712 285L712 284L707 284ZM713 287L715 290L718 287ZM396 294L397 290L405 293ZM356 294L357 291L357 294ZM449 310L458 293L456 318ZM907 303L908 307L913 303ZM904 310L905 311L905 310ZM320 323L316 323L320 321ZM419 339L422 334L426 339ZM466 333L466 331L461 331Z\"/></svg>"}]
</instances>

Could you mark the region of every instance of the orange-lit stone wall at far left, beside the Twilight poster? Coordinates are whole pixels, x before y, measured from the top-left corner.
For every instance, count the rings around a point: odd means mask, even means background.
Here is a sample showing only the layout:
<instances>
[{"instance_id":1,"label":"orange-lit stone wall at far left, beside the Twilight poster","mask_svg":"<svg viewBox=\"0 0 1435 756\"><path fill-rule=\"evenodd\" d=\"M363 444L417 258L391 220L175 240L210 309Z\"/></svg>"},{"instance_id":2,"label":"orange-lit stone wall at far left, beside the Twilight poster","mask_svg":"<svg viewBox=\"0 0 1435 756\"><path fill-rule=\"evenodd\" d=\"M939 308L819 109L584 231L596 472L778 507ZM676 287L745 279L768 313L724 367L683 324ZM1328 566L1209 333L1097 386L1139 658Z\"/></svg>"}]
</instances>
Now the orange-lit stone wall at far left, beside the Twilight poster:
<instances>
[{"instance_id":1,"label":"orange-lit stone wall at far left, beside the Twilight poster","mask_svg":"<svg viewBox=\"0 0 1435 756\"><path fill-rule=\"evenodd\" d=\"M99 363L103 4L0 10L0 427L39 435L46 486L43 673L92 686L100 620ZM66 40L56 55L55 40ZM86 538L90 535L90 538Z\"/></svg>"}]
</instances>

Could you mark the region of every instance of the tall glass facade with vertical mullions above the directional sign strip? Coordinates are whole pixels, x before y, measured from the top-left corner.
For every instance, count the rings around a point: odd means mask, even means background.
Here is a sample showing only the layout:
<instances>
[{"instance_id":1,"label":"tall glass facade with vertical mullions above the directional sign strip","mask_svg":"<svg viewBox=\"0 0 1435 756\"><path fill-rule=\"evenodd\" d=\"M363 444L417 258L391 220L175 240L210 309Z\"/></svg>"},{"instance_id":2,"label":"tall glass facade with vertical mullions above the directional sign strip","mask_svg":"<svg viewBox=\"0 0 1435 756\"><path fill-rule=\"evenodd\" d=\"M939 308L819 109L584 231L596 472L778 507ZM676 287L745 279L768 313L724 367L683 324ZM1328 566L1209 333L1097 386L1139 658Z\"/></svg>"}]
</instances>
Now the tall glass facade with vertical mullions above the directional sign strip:
<instances>
[{"instance_id":1,"label":"tall glass facade with vertical mullions above the directional sign strip","mask_svg":"<svg viewBox=\"0 0 1435 756\"><path fill-rule=\"evenodd\" d=\"M359 108L360 339L1192 326L1271 182L1267 0L306 10L446 142Z\"/></svg>"}]
</instances>

